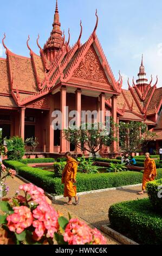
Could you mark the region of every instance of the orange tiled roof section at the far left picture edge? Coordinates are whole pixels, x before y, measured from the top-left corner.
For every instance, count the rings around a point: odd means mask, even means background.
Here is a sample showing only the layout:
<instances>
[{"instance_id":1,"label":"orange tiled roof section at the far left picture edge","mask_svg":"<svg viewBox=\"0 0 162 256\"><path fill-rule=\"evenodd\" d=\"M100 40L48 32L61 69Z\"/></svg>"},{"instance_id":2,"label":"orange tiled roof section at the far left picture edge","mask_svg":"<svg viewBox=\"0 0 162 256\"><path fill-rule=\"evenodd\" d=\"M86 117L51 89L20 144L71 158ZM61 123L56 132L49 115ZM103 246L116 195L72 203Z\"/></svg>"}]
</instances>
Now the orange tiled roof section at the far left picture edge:
<instances>
[{"instance_id":1,"label":"orange tiled roof section at the far left picture edge","mask_svg":"<svg viewBox=\"0 0 162 256\"><path fill-rule=\"evenodd\" d=\"M0 58L0 93L11 93L9 85L9 71L6 59Z\"/></svg>"}]
</instances>

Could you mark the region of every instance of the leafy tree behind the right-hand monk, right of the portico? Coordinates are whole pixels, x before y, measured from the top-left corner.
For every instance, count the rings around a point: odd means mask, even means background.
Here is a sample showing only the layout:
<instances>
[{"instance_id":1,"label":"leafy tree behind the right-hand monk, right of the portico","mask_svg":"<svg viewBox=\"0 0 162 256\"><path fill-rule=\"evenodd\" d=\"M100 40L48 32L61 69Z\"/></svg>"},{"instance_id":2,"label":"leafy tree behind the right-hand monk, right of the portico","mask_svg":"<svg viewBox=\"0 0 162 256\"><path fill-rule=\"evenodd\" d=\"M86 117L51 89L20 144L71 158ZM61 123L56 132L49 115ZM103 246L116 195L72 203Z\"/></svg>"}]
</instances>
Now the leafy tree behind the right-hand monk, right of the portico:
<instances>
[{"instance_id":1,"label":"leafy tree behind the right-hand monk, right of the portico","mask_svg":"<svg viewBox=\"0 0 162 256\"><path fill-rule=\"evenodd\" d=\"M140 122L119 123L119 139L122 151L127 153L137 152L145 147L148 142L157 137L155 132L147 130L147 125Z\"/></svg>"}]
</instances>

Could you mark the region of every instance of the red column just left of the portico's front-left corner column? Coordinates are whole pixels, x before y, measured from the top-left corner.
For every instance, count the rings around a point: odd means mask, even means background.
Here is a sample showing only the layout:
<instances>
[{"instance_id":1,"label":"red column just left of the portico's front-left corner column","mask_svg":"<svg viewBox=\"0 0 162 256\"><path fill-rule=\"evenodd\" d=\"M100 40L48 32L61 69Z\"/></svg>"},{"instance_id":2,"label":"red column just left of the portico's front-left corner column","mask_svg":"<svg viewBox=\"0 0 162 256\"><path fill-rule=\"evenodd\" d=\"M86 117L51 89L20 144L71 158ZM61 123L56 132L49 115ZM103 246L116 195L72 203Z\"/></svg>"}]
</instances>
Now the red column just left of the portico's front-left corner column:
<instances>
[{"instance_id":1,"label":"red column just left of the portico's front-left corner column","mask_svg":"<svg viewBox=\"0 0 162 256\"><path fill-rule=\"evenodd\" d=\"M52 126L52 113L54 111L54 98L53 95L50 96L50 111L49 111L49 136L48 136L48 144L49 144L49 152L54 153L54 129ZM46 134L45 134L46 135Z\"/></svg>"}]
</instances>

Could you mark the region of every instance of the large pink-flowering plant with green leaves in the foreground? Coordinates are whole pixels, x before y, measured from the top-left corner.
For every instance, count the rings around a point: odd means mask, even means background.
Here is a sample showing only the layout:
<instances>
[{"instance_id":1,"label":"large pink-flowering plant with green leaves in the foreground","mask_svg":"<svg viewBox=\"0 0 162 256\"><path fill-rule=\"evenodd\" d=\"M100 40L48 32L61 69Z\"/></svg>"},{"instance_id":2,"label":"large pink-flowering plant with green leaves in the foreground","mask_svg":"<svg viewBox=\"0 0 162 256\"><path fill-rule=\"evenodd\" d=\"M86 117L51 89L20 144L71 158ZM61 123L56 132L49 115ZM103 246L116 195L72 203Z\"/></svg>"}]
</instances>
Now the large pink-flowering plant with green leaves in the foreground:
<instances>
[{"instance_id":1,"label":"large pink-flowering plant with green leaves in the foreground","mask_svg":"<svg viewBox=\"0 0 162 256\"><path fill-rule=\"evenodd\" d=\"M17 245L105 245L106 239L97 229L69 215L57 212L42 188L33 184L19 187L24 196L16 195L0 202L5 215L0 216L0 244ZM4 231L5 230L5 231Z\"/></svg>"}]
</instances>

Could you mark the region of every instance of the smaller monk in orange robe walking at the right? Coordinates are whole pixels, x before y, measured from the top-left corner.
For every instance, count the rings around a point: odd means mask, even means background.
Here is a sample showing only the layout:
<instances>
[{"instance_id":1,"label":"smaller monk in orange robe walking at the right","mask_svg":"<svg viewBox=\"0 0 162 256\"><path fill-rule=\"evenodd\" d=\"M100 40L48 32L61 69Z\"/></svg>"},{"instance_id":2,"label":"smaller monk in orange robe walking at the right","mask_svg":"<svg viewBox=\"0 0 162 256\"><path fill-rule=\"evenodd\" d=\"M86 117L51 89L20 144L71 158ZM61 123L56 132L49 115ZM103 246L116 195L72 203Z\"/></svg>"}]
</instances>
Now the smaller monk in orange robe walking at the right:
<instances>
[{"instance_id":1,"label":"smaller monk in orange robe walking at the right","mask_svg":"<svg viewBox=\"0 0 162 256\"><path fill-rule=\"evenodd\" d=\"M155 161L150 158L150 154L145 154L145 163L144 163L144 174L142 179L142 191L138 194L144 194L144 190L146 188L146 183L148 181L153 181L157 176L157 169L155 165Z\"/></svg>"}]
</instances>

